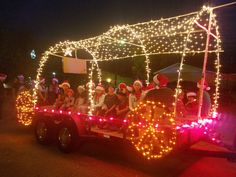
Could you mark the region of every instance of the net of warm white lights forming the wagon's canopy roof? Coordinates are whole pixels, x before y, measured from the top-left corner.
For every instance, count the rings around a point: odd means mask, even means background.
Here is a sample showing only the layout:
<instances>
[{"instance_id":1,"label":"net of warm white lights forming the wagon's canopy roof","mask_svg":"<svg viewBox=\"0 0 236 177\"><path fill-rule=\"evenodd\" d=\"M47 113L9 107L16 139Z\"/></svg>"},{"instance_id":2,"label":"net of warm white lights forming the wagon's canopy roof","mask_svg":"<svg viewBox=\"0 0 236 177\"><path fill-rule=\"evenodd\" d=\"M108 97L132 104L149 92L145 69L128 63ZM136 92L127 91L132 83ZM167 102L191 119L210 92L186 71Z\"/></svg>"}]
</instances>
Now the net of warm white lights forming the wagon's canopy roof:
<instances>
[{"instance_id":1,"label":"net of warm white lights forming the wagon's canopy roof","mask_svg":"<svg viewBox=\"0 0 236 177\"><path fill-rule=\"evenodd\" d=\"M98 61L123 59L154 54L202 53L205 51L206 29L210 8L204 7L194 12L177 17L134 25L114 26L102 35L80 40L65 41L49 52L68 53L84 49ZM212 39L209 52L216 52L216 20L212 19ZM186 47L186 49L185 49Z\"/></svg>"}]
</instances>

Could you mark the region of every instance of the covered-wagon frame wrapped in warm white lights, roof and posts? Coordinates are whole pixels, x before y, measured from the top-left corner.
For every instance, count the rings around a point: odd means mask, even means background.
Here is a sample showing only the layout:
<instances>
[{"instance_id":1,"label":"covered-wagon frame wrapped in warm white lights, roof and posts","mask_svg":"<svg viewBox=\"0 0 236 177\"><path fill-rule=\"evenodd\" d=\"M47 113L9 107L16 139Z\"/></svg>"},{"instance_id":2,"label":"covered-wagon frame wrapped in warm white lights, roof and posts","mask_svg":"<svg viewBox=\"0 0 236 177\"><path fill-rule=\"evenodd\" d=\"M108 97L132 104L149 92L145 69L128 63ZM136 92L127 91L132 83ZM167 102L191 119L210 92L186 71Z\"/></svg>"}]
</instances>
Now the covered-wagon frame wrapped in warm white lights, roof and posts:
<instances>
[{"instance_id":1,"label":"covered-wagon frame wrapped in warm white lights, roof and posts","mask_svg":"<svg viewBox=\"0 0 236 177\"><path fill-rule=\"evenodd\" d=\"M144 56L146 64L146 83L148 84L151 73L149 57L150 55L158 54L179 54L179 56L181 56L176 97L181 89L181 71L186 56L189 54L204 54L201 84L203 88L208 53L215 53L215 93L211 114L217 110L220 86L220 52L222 52L222 50L216 15L213 13L213 8L211 7L203 6L198 12L171 18L151 20L133 25L114 26L102 35L93 38L80 41L60 42L50 47L43 53L37 70L36 86L33 93L34 103L37 102L37 88L40 76L49 56L71 56L72 52L76 53L78 50L84 50L91 55L91 59L88 60L91 63L88 75L90 80L89 99L91 102L89 114L92 114L94 107L92 96L94 69L98 71L99 82L102 80L99 62ZM202 93L203 89L201 89L199 113L201 112ZM199 117L201 117L200 114Z\"/></svg>"}]
</instances>

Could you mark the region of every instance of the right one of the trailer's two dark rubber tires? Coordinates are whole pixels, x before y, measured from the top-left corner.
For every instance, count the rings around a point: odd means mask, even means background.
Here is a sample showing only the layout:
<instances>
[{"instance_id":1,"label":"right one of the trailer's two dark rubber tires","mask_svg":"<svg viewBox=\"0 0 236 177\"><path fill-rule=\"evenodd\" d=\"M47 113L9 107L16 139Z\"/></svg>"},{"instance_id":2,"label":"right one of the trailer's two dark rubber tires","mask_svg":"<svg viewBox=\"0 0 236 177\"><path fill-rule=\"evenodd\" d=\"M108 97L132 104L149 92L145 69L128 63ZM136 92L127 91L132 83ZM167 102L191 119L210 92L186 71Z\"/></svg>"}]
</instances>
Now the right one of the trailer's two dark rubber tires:
<instances>
[{"instance_id":1,"label":"right one of the trailer's two dark rubber tires","mask_svg":"<svg viewBox=\"0 0 236 177\"><path fill-rule=\"evenodd\" d=\"M57 134L57 145L60 151L69 153L75 150L79 136L72 125L62 124Z\"/></svg>"}]
</instances>

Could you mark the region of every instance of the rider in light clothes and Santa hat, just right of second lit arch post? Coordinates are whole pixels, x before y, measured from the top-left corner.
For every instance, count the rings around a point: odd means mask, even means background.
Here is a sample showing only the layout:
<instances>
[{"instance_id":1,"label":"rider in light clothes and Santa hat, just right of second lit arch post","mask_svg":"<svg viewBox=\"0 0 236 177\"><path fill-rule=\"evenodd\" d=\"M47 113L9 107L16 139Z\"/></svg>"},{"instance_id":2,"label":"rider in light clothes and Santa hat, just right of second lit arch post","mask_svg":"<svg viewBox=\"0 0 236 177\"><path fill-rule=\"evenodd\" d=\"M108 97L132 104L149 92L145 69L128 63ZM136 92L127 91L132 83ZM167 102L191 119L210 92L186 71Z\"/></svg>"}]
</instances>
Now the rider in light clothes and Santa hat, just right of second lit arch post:
<instances>
[{"instance_id":1,"label":"rider in light clothes and Santa hat, just right of second lit arch post","mask_svg":"<svg viewBox=\"0 0 236 177\"><path fill-rule=\"evenodd\" d=\"M94 115L99 115L105 99L105 89L102 85L95 88L94 100Z\"/></svg>"}]
</instances>

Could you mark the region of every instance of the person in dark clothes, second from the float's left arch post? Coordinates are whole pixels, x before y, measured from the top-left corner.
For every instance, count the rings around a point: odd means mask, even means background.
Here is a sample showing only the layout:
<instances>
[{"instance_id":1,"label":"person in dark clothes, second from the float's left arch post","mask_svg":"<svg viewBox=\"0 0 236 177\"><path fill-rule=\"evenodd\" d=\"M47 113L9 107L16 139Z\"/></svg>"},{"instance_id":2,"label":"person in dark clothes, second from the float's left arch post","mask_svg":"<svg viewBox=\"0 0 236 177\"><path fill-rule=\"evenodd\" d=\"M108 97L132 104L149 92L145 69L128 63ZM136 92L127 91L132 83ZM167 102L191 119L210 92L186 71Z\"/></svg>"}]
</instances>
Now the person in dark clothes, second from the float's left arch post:
<instances>
[{"instance_id":1,"label":"person in dark clothes, second from the float's left arch post","mask_svg":"<svg viewBox=\"0 0 236 177\"><path fill-rule=\"evenodd\" d=\"M58 79L54 77L52 78L52 82L48 88L48 103L50 105L53 105L55 103L58 93L59 93Z\"/></svg>"}]
</instances>

